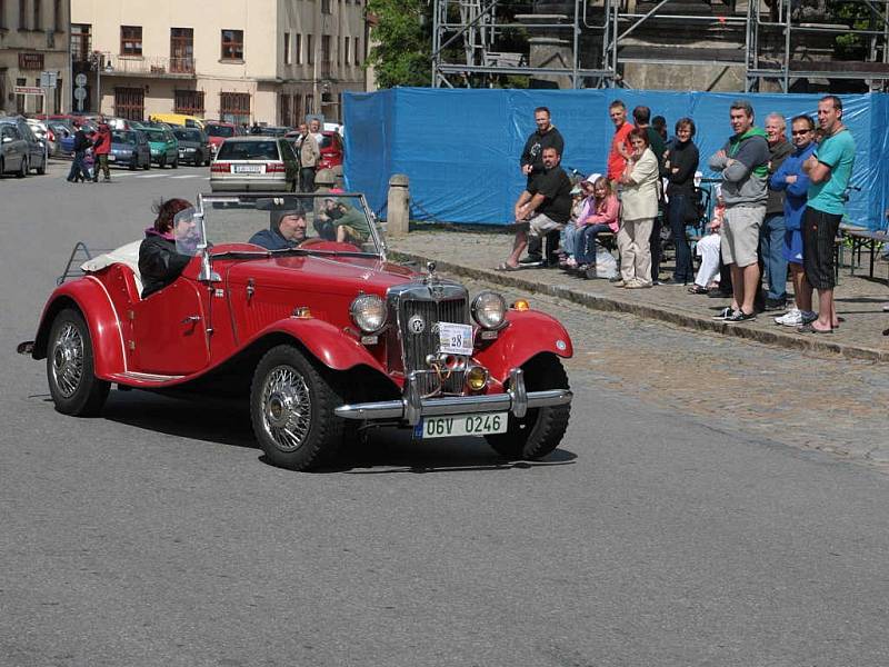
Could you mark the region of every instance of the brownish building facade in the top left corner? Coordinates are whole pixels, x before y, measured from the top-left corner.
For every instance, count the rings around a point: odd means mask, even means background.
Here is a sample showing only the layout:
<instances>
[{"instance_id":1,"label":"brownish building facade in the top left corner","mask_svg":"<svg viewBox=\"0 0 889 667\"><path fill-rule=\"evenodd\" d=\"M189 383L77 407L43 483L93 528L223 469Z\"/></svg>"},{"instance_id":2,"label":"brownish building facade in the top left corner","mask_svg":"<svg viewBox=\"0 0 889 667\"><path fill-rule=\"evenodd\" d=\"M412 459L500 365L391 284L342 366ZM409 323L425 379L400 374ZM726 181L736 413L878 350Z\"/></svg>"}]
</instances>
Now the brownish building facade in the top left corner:
<instances>
[{"instance_id":1,"label":"brownish building facade in the top left corner","mask_svg":"<svg viewBox=\"0 0 889 667\"><path fill-rule=\"evenodd\" d=\"M69 0L0 0L0 110L66 110L69 6ZM54 88L41 88L41 72L54 74Z\"/></svg>"}]
</instances>

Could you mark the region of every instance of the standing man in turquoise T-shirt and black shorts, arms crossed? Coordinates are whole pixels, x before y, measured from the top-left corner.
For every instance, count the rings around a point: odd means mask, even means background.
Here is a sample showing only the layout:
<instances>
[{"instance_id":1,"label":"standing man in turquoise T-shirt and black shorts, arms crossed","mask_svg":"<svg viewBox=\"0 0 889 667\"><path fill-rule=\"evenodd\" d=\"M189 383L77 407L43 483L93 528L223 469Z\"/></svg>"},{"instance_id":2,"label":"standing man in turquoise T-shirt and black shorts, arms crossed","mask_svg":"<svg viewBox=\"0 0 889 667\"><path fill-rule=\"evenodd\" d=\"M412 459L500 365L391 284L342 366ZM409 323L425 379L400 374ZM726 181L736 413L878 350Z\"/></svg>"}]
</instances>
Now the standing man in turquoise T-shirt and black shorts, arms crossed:
<instances>
[{"instance_id":1,"label":"standing man in turquoise T-shirt and black shorts, arms crossed","mask_svg":"<svg viewBox=\"0 0 889 667\"><path fill-rule=\"evenodd\" d=\"M799 331L828 334L839 327L833 306L833 239L855 166L855 139L842 125L842 101L837 96L825 96L818 102L818 125L825 131L825 139L802 163L811 180L802 217L802 263L806 289L818 290L818 319Z\"/></svg>"}]
</instances>

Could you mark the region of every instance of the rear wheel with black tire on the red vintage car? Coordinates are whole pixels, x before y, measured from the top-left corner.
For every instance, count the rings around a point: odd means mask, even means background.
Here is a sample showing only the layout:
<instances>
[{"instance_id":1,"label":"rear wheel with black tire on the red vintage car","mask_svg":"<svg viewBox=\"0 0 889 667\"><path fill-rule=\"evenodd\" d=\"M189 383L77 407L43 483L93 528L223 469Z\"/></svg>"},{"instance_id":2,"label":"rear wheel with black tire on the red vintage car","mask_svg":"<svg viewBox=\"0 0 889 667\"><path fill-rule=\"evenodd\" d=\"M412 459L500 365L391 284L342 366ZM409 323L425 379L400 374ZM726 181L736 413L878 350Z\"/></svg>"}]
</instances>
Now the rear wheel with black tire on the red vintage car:
<instances>
[{"instance_id":1,"label":"rear wheel with black tire on the red vintage car","mask_svg":"<svg viewBox=\"0 0 889 667\"><path fill-rule=\"evenodd\" d=\"M52 322L47 348L47 380L56 409L63 415L98 415L110 382L94 375L92 339L83 316L66 308Z\"/></svg>"}]
</instances>

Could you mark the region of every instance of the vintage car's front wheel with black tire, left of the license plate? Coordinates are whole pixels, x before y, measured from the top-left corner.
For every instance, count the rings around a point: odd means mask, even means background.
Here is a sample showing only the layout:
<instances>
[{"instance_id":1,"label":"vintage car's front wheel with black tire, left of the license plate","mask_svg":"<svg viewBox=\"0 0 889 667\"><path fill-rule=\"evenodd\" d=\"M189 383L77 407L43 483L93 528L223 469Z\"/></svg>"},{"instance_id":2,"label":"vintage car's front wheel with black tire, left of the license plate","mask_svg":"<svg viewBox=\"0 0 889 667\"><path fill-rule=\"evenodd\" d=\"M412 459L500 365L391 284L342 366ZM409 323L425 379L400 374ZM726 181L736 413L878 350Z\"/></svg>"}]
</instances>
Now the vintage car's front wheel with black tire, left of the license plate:
<instances>
[{"instance_id":1,"label":"vintage car's front wheel with black tire, left of the license plate","mask_svg":"<svg viewBox=\"0 0 889 667\"><path fill-rule=\"evenodd\" d=\"M344 401L326 375L292 345L273 347L257 365L250 419L273 466L307 470L329 461L342 444L346 420L333 409Z\"/></svg>"}]
</instances>

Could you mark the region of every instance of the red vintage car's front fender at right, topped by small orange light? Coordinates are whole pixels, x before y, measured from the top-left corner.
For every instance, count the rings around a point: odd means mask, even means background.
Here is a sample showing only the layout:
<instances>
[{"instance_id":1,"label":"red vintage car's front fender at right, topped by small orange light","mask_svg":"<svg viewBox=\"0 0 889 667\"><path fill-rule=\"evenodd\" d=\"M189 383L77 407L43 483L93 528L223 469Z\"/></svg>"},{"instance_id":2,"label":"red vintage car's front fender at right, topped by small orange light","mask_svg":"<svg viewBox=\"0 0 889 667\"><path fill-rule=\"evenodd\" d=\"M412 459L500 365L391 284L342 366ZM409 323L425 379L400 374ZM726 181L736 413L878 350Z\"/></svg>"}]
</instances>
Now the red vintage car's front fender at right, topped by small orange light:
<instances>
[{"instance_id":1,"label":"red vintage car's front fender at right, topped by small orange light","mask_svg":"<svg viewBox=\"0 0 889 667\"><path fill-rule=\"evenodd\" d=\"M497 339L475 355L476 360L500 382L509 378L511 368L522 366L541 352L552 352L562 358L575 354L568 331L549 315L510 310L507 321L509 326L499 331Z\"/></svg>"}]
</instances>

